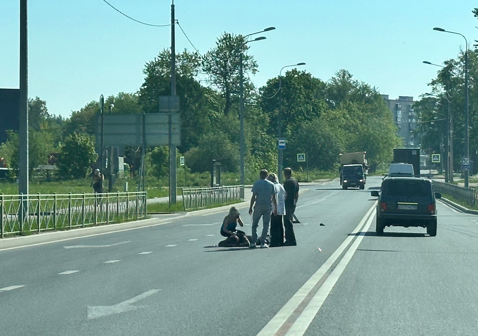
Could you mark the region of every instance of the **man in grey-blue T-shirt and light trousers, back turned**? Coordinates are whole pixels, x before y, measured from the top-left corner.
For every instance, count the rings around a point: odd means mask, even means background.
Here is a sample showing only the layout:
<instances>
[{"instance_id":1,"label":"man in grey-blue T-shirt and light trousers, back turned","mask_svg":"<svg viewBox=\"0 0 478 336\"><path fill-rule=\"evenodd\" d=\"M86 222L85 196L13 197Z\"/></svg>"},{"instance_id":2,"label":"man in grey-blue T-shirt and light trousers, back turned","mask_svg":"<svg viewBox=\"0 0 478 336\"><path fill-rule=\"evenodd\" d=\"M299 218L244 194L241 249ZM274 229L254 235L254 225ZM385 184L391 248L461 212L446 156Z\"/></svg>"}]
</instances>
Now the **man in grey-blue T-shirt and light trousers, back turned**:
<instances>
[{"instance_id":1,"label":"man in grey-blue T-shirt and light trousers, back turned","mask_svg":"<svg viewBox=\"0 0 478 336\"><path fill-rule=\"evenodd\" d=\"M277 200L274 184L267 179L267 170L262 169L257 180L252 185L252 197L250 198L249 214L252 214L252 206L254 206L254 215L252 216L252 240L250 247L256 247L257 242L257 227L259 226L259 220L262 217L262 234L259 242L261 248L268 248L266 244L267 232L269 231L269 222L271 221L272 204L274 206L274 214L277 213ZM272 199L272 204L271 204Z\"/></svg>"}]
</instances>

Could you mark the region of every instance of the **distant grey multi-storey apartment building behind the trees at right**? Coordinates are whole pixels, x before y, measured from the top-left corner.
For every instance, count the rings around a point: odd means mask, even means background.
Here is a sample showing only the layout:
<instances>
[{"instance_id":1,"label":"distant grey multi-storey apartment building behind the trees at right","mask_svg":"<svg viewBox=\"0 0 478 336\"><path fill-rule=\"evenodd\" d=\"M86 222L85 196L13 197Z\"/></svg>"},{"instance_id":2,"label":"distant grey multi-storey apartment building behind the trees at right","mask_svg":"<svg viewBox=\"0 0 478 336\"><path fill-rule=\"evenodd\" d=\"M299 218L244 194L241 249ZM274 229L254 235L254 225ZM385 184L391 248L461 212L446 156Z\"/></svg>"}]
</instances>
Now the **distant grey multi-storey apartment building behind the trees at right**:
<instances>
[{"instance_id":1,"label":"distant grey multi-storey apartment building behind the trees at right","mask_svg":"<svg viewBox=\"0 0 478 336\"><path fill-rule=\"evenodd\" d=\"M382 94L383 99L387 102L393 121L398 128L398 135L403 138L405 147L417 147L419 139L414 135L413 130L417 126L418 118L413 110L413 97L398 96L398 99L389 99L388 94Z\"/></svg>"}]
</instances>

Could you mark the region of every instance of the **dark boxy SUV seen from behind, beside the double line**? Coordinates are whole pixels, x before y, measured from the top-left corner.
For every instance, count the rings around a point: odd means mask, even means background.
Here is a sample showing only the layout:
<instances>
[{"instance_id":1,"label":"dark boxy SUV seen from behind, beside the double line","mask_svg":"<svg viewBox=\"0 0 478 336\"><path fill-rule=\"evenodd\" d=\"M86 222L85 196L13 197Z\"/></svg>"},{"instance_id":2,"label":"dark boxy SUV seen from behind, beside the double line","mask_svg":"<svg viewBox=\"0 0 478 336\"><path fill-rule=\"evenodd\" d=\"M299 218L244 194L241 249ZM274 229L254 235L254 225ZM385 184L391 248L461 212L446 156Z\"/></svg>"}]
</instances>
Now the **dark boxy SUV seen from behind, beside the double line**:
<instances>
[{"instance_id":1,"label":"dark boxy SUV seen from behind, beside the double line","mask_svg":"<svg viewBox=\"0 0 478 336\"><path fill-rule=\"evenodd\" d=\"M413 177L393 177L382 181L375 231L383 234L386 226L426 228L426 233L436 236L436 203L442 195L433 192L432 181Z\"/></svg>"}]
</instances>

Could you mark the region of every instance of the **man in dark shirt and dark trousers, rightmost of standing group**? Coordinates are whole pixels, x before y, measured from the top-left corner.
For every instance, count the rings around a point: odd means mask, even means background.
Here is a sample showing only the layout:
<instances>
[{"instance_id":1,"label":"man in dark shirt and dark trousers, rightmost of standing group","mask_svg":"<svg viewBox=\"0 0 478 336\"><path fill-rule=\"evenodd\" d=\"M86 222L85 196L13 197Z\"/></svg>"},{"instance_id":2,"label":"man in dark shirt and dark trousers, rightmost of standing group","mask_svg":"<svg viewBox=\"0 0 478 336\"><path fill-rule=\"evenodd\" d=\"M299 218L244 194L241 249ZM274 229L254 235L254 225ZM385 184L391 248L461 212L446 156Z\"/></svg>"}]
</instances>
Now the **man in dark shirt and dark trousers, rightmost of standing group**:
<instances>
[{"instance_id":1,"label":"man in dark shirt and dark trousers, rightmost of standing group","mask_svg":"<svg viewBox=\"0 0 478 336\"><path fill-rule=\"evenodd\" d=\"M285 189L285 216L284 216L284 229L285 229L285 242L283 246L295 246L294 228L292 226L292 219L295 211L297 200L299 199L299 184L292 177L292 168L284 169L283 183Z\"/></svg>"}]
</instances>

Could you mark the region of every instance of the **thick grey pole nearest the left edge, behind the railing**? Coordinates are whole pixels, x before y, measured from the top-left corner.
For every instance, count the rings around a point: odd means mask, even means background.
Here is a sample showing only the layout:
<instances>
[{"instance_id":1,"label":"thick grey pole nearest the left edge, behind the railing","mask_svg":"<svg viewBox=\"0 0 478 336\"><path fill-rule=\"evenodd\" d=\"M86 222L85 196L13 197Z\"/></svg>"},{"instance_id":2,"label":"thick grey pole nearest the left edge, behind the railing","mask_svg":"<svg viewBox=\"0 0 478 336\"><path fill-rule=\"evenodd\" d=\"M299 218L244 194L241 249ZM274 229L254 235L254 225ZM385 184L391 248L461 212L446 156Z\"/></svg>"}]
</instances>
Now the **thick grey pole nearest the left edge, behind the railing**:
<instances>
[{"instance_id":1,"label":"thick grey pole nearest the left edge, behind the railing","mask_svg":"<svg viewBox=\"0 0 478 336\"><path fill-rule=\"evenodd\" d=\"M18 192L23 194L20 207L20 231L28 213L28 5L20 0L20 127L18 129Z\"/></svg>"}]
</instances>

